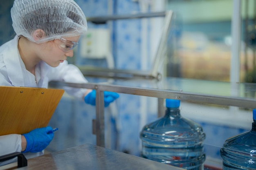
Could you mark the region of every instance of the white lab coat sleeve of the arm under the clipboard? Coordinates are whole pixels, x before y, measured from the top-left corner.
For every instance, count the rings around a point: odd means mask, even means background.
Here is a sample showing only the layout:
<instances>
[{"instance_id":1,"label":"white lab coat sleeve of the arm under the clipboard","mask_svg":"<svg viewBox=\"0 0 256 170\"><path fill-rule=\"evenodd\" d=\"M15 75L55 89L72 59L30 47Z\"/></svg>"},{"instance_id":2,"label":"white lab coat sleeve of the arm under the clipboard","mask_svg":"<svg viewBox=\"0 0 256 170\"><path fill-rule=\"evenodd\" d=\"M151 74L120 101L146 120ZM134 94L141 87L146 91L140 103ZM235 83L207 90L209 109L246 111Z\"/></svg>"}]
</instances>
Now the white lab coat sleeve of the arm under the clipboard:
<instances>
[{"instance_id":1,"label":"white lab coat sleeve of the arm under the clipboard","mask_svg":"<svg viewBox=\"0 0 256 170\"><path fill-rule=\"evenodd\" d=\"M0 156L13 152L21 152L21 135L11 134L0 136ZM15 161L16 158L0 162L0 166Z\"/></svg>"}]
</instances>

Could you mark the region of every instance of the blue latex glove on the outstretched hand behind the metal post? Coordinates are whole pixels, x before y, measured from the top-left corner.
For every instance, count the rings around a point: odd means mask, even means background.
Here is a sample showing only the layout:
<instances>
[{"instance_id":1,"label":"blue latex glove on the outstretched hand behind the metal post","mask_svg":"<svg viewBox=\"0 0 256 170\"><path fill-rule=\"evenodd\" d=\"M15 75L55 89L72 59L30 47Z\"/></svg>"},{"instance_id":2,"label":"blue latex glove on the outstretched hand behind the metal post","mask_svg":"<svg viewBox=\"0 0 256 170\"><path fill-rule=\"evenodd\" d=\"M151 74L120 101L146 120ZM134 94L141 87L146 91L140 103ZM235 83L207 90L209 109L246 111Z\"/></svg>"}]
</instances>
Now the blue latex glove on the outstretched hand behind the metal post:
<instances>
[{"instance_id":1,"label":"blue latex glove on the outstretched hand behind the metal post","mask_svg":"<svg viewBox=\"0 0 256 170\"><path fill-rule=\"evenodd\" d=\"M119 97L119 94L115 92L110 92L110 91L104 91L104 106L108 107L108 105L111 102L114 102L115 99ZM84 101L87 104L91 104L92 106L95 106L96 102L96 91L92 90L88 95L85 96Z\"/></svg>"}]
</instances>

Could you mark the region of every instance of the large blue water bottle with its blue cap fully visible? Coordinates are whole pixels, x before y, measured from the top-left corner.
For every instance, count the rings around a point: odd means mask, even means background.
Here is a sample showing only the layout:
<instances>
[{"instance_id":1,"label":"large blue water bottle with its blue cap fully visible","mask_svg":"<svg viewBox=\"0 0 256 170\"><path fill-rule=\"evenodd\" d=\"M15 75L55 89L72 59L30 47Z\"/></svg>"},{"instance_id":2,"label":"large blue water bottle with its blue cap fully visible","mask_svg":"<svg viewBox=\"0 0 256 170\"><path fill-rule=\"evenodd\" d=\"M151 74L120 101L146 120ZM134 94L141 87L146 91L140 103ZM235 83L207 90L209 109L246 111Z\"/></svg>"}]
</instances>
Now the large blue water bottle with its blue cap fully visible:
<instances>
[{"instance_id":1,"label":"large blue water bottle with its blue cap fully visible","mask_svg":"<svg viewBox=\"0 0 256 170\"><path fill-rule=\"evenodd\" d=\"M203 170L205 133L180 115L180 101L166 99L165 116L142 129L141 156L187 170Z\"/></svg>"}]
</instances>

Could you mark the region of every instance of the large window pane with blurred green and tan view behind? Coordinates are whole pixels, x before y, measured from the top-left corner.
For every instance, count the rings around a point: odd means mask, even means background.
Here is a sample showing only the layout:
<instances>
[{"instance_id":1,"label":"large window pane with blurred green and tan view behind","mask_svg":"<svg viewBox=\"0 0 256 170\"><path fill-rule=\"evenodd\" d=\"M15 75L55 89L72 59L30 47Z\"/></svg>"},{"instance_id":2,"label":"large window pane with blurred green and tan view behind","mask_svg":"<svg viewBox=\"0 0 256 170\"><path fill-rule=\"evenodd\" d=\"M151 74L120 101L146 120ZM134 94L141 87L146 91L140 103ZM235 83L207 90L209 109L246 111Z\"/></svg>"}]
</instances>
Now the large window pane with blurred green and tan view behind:
<instances>
[{"instance_id":1,"label":"large window pane with blurred green and tan view behind","mask_svg":"<svg viewBox=\"0 0 256 170\"><path fill-rule=\"evenodd\" d=\"M168 42L167 76L229 81L232 3L168 0L175 23Z\"/></svg>"}]
</instances>

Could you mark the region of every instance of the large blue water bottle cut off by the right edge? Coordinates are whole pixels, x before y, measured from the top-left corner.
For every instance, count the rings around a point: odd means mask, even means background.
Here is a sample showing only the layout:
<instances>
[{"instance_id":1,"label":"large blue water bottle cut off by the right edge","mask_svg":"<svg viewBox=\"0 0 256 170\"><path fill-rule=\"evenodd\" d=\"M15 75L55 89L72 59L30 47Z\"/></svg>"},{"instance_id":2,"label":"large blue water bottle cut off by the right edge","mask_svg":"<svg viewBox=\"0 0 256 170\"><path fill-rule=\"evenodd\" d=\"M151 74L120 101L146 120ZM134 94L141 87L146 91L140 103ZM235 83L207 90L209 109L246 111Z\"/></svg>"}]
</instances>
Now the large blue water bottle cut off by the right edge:
<instances>
[{"instance_id":1,"label":"large blue water bottle cut off by the right edge","mask_svg":"<svg viewBox=\"0 0 256 170\"><path fill-rule=\"evenodd\" d=\"M220 149L223 170L256 170L256 109L252 130L228 138Z\"/></svg>"}]
</instances>

